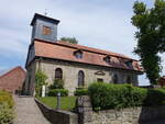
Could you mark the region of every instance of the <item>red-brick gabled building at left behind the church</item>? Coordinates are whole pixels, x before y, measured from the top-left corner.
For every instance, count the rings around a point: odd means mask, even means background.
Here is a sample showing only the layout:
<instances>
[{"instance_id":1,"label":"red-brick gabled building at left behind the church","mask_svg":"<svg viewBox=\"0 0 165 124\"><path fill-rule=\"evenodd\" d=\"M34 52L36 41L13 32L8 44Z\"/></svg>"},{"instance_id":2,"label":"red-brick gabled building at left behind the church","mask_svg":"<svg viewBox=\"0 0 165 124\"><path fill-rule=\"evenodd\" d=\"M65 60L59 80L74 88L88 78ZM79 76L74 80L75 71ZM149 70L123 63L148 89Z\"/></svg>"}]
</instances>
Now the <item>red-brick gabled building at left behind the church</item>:
<instances>
[{"instance_id":1,"label":"red-brick gabled building at left behind the church","mask_svg":"<svg viewBox=\"0 0 165 124\"><path fill-rule=\"evenodd\" d=\"M0 89L14 93L22 88L25 70L20 66L0 76Z\"/></svg>"}]
</instances>

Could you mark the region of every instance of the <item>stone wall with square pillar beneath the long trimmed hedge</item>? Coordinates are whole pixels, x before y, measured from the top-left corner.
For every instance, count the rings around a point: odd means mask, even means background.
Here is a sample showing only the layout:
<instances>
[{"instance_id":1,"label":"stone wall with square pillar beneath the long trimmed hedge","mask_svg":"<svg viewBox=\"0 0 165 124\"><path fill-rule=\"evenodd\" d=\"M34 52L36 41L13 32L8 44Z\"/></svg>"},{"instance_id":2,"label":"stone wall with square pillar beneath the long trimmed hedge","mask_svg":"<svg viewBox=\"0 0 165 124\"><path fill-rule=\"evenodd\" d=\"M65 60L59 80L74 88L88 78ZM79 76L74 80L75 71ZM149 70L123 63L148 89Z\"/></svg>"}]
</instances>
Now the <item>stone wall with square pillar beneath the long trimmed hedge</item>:
<instances>
[{"instance_id":1,"label":"stone wall with square pillar beneath the long trimmed hedge","mask_svg":"<svg viewBox=\"0 0 165 124\"><path fill-rule=\"evenodd\" d=\"M165 105L94 112L89 97L79 97L77 105L79 124L145 124L165 119Z\"/></svg>"}]
</instances>

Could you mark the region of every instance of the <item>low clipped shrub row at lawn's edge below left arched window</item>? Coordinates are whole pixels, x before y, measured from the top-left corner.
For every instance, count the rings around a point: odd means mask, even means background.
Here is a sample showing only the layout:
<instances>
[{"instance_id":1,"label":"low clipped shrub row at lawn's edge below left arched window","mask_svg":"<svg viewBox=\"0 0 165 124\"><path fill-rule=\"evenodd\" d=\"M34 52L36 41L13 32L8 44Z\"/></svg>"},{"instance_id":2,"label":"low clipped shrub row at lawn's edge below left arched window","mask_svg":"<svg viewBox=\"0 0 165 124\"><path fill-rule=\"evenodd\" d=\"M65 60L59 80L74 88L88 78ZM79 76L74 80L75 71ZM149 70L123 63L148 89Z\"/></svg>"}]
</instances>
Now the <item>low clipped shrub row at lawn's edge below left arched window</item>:
<instances>
[{"instance_id":1,"label":"low clipped shrub row at lawn's edge below left arched window","mask_svg":"<svg viewBox=\"0 0 165 124\"><path fill-rule=\"evenodd\" d=\"M48 97L57 97L57 93L61 92L62 97L68 95L68 90L65 89L52 89L48 91Z\"/></svg>"}]
</instances>

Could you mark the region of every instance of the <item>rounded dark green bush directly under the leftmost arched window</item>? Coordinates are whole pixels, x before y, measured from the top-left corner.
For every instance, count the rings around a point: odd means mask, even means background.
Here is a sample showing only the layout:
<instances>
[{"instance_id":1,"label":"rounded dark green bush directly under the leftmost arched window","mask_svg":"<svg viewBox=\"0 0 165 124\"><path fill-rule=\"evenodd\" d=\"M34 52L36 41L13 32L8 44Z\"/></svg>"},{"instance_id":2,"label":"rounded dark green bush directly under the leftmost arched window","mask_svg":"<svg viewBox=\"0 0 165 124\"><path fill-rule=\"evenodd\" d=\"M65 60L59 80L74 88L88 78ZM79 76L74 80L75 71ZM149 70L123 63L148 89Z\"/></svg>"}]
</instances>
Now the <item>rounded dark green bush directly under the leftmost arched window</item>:
<instances>
[{"instance_id":1,"label":"rounded dark green bush directly under the leftmost arched window","mask_svg":"<svg viewBox=\"0 0 165 124\"><path fill-rule=\"evenodd\" d=\"M64 80L55 79L50 89L64 89Z\"/></svg>"}]
</instances>

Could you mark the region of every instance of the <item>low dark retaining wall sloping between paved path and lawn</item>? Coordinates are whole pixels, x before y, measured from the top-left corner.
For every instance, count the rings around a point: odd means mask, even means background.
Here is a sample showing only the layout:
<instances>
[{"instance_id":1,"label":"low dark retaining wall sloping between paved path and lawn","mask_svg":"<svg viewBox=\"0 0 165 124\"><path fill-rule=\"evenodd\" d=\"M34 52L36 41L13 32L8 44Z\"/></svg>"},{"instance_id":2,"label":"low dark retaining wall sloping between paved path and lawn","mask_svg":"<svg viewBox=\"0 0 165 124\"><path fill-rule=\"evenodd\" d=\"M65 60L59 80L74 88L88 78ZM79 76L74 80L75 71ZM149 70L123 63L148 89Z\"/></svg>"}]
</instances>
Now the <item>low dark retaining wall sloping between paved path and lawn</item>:
<instances>
[{"instance_id":1,"label":"low dark retaining wall sloping between paved path and lawn","mask_svg":"<svg viewBox=\"0 0 165 124\"><path fill-rule=\"evenodd\" d=\"M78 124L78 115L72 112L53 110L35 99L44 116L53 124Z\"/></svg>"}]
</instances>

